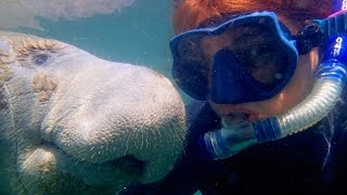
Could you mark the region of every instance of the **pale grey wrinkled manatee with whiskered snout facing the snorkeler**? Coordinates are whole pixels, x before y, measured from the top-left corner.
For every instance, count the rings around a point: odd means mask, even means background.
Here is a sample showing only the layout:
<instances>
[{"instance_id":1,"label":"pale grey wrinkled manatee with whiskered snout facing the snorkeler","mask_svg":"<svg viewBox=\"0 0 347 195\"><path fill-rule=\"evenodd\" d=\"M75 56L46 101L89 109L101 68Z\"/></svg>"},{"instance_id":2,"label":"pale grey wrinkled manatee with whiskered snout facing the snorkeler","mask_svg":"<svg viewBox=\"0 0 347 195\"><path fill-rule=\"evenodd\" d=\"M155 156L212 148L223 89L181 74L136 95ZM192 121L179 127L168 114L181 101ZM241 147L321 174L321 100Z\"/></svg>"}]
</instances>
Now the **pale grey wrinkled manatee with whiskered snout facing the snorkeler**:
<instances>
[{"instance_id":1,"label":"pale grey wrinkled manatee with whiskered snout facing the snorkeler","mask_svg":"<svg viewBox=\"0 0 347 195\"><path fill-rule=\"evenodd\" d=\"M180 158L184 119L154 70L0 31L0 194L115 194L158 181Z\"/></svg>"}]
</instances>

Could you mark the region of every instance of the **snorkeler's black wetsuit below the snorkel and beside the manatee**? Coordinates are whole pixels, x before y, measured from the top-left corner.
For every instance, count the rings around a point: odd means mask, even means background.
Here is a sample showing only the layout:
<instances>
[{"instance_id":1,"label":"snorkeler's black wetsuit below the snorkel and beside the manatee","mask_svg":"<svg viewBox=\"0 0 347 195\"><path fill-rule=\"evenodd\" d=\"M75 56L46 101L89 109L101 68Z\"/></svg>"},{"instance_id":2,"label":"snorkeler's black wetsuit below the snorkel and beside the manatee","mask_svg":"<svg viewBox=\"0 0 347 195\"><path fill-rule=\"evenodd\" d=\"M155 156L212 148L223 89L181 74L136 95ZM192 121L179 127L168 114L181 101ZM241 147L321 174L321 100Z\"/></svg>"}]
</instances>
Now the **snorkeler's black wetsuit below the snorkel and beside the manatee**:
<instances>
[{"instance_id":1,"label":"snorkeler's black wetsuit below the snorkel and beside the manatee","mask_svg":"<svg viewBox=\"0 0 347 195\"><path fill-rule=\"evenodd\" d=\"M345 90L346 91L346 90ZM346 92L343 98L347 98ZM220 128L206 102L187 106L188 147L166 179L128 194L347 194L347 104L301 133L247 148L224 160L206 160L197 138Z\"/></svg>"}]
</instances>

